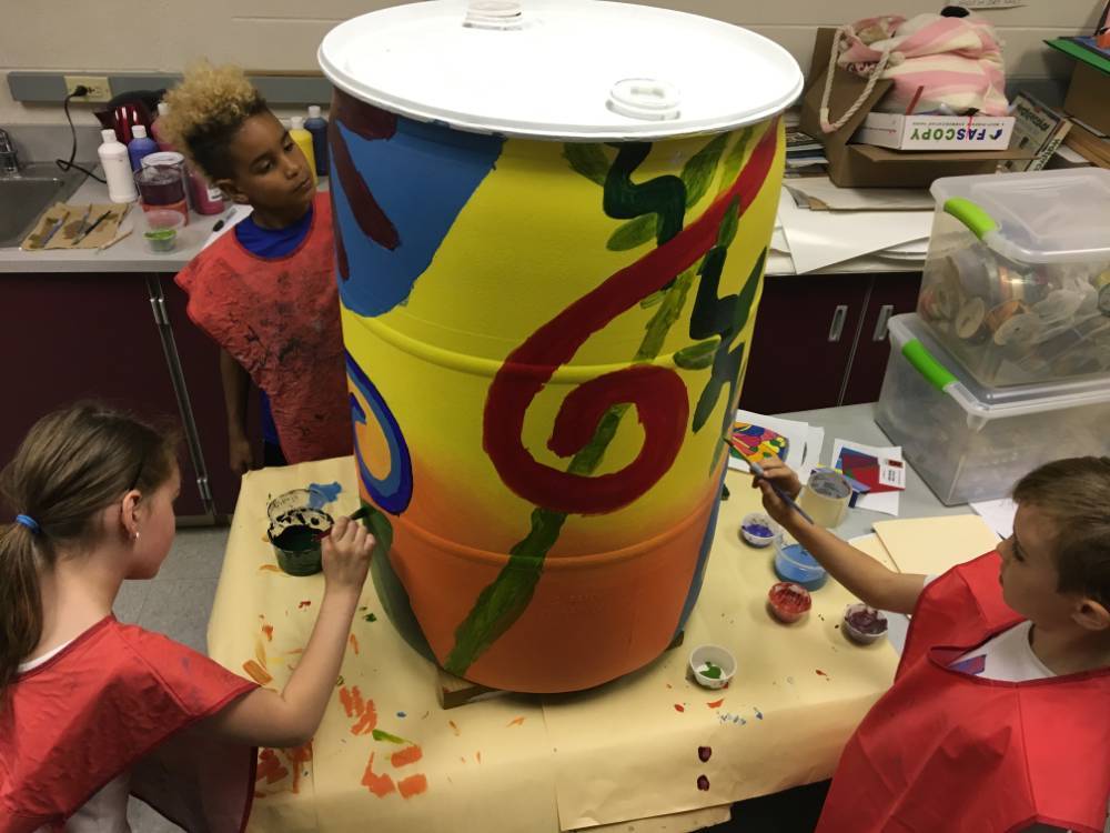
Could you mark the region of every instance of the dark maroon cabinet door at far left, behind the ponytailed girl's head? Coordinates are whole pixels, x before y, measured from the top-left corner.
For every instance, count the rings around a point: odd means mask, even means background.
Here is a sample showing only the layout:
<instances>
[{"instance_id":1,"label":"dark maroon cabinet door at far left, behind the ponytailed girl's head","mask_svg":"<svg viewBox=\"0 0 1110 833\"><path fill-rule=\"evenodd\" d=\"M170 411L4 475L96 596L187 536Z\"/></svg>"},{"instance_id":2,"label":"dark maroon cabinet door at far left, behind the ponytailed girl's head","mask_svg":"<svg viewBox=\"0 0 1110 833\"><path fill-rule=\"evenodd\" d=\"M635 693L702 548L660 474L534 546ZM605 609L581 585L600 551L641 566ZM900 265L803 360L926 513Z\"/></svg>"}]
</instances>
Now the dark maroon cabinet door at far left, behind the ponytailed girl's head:
<instances>
[{"instance_id":1,"label":"dark maroon cabinet door at far left, behind the ponytailed girl's head","mask_svg":"<svg viewBox=\"0 0 1110 833\"><path fill-rule=\"evenodd\" d=\"M2 274L0 299L0 461L40 416L80 399L164 420L184 435L144 275ZM203 515L184 442L178 461L176 512Z\"/></svg>"}]
</instances>

